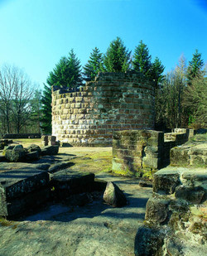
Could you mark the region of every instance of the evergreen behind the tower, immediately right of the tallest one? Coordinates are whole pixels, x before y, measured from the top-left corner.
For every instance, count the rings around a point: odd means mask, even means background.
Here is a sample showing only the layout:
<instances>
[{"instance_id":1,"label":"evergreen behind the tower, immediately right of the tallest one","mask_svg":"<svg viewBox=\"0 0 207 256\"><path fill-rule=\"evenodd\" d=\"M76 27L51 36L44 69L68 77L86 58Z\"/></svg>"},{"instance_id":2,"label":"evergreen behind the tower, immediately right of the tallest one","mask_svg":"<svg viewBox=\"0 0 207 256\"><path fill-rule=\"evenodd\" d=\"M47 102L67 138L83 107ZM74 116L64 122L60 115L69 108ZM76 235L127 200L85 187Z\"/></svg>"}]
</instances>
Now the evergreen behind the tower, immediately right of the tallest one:
<instances>
[{"instance_id":1,"label":"evergreen behind the tower, immediately right of the tallest one","mask_svg":"<svg viewBox=\"0 0 207 256\"><path fill-rule=\"evenodd\" d=\"M151 60L152 56L149 54L148 47L141 40L134 51L134 56L132 60L133 70L141 72L143 75L151 76Z\"/></svg>"}]
</instances>

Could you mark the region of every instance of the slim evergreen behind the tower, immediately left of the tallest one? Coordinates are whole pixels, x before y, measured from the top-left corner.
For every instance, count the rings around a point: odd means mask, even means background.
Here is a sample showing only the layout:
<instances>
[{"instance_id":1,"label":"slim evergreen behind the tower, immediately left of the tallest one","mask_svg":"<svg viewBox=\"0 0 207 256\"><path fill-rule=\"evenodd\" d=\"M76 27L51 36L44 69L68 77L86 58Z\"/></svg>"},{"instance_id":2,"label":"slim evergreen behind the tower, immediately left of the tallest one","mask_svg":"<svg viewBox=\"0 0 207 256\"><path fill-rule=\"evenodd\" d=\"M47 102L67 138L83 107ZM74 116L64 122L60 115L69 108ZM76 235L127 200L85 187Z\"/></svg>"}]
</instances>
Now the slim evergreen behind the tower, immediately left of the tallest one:
<instances>
[{"instance_id":1,"label":"slim evergreen behind the tower, immediately left of the tallest one","mask_svg":"<svg viewBox=\"0 0 207 256\"><path fill-rule=\"evenodd\" d=\"M103 56L99 48L95 47L84 65L84 80L94 80L99 71L103 70Z\"/></svg>"}]
</instances>

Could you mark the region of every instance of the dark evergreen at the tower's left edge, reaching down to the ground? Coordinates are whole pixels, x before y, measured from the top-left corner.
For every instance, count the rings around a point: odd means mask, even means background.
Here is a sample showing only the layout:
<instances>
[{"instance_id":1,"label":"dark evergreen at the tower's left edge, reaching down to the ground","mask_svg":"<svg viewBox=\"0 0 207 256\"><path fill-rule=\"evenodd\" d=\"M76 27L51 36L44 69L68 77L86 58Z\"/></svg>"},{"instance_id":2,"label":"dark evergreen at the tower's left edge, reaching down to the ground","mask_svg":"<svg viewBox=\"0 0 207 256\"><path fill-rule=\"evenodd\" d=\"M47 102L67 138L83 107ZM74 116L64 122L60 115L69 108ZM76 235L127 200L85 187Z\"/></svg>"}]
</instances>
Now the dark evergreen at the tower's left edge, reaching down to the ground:
<instances>
[{"instance_id":1,"label":"dark evergreen at the tower's left edge, reaching down to the ground","mask_svg":"<svg viewBox=\"0 0 207 256\"><path fill-rule=\"evenodd\" d=\"M75 56L73 49L68 57L60 58L58 64L55 65L55 69L50 72L46 82L48 85L44 85L41 99L41 128L43 133L51 133L51 86L59 85L60 87L66 86L76 89L79 85L82 85L80 61Z\"/></svg>"}]
</instances>

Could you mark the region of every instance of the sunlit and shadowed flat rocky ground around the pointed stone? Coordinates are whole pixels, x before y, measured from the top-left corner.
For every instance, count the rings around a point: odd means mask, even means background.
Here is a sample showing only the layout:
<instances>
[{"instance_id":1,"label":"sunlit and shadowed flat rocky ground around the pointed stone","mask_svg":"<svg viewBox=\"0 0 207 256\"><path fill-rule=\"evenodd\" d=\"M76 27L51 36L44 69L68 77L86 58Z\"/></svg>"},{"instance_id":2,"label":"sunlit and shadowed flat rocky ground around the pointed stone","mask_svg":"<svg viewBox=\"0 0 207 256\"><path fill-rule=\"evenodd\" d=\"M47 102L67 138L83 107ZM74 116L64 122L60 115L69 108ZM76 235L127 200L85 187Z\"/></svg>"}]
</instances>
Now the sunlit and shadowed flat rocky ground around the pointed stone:
<instances>
[{"instance_id":1,"label":"sunlit and shadowed flat rocky ground around the pointed stone","mask_svg":"<svg viewBox=\"0 0 207 256\"><path fill-rule=\"evenodd\" d=\"M74 162L70 168L75 171L92 171L104 181L115 181L127 196L128 205L123 208L105 205L103 192L94 192L86 195L87 205L51 203L17 220L2 219L0 255L134 255L134 238L144 220L152 188L139 186L136 179L106 172L111 167L110 147L62 147L54 159L47 157L48 164L54 161ZM26 163L1 163L1 171L23 166Z\"/></svg>"}]
</instances>

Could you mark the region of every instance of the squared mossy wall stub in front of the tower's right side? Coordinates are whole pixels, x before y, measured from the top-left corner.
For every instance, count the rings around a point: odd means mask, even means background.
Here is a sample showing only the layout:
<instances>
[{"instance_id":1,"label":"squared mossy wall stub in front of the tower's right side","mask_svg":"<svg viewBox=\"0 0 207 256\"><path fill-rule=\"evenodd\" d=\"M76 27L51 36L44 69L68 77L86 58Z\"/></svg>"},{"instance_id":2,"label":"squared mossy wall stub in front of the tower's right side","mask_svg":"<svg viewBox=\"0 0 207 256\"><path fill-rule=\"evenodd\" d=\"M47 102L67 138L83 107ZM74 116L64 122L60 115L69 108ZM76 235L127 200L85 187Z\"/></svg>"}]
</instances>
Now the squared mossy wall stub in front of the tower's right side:
<instances>
[{"instance_id":1,"label":"squared mossy wall stub in front of the tower's right side","mask_svg":"<svg viewBox=\"0 0 207 256\"><path fill-rule=\"evenodd\" d=\"M171 148L186 142L189 134L188 129L185 133L142 129L114 132L113 172L142 176L146 171L161 169L170 163Z\"/></svg>"}]
</instances>

